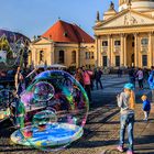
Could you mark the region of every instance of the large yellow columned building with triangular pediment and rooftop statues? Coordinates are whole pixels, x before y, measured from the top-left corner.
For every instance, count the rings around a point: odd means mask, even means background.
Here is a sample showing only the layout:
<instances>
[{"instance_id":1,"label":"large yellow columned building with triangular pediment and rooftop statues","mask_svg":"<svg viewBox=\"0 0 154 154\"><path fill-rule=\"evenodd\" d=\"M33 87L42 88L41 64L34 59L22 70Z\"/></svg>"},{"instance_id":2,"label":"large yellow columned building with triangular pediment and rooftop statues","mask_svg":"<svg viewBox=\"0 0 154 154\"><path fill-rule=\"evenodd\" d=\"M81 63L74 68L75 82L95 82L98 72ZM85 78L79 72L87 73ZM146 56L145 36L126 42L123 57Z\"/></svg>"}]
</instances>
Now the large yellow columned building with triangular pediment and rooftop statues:
<instances>
[{"instance_id":1,"label":"large yellow columned building with triangular pediment and rooftop statues","mask_svg":"<svg viewBox=\"0 0 154 154\"><path fill-rule=\"evenodd\" d=\"M119 0L119 11L111 2L94 31L98 66L154 65L154 0Z\"/></svg>"}]
</instances>

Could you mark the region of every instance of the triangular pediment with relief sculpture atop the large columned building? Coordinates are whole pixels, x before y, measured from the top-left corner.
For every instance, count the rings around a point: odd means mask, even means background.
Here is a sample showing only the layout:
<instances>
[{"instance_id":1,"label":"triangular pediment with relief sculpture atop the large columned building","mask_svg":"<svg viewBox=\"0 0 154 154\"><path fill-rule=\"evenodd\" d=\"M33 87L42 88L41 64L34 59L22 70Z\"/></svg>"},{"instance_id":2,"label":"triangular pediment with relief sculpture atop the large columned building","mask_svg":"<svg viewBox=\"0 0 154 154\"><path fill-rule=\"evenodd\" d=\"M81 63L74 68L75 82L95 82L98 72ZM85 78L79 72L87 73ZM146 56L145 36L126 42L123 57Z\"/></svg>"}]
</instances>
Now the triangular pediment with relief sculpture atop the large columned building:
<instances>
[{"instance_id":1,"label":"triangular pediment with relief sculpture atop the large columned building","mask_svg":"<svg viewBox=\"0 0 154 154\"><path fill-rule=\"evenodd\" d=\"M119 13L110 18L107 21L101 22L99 25L96 25L96 29L119 28L119 26L142 25L142 24L143 25L154 24L154 18L150 18L136 11L127 10L122 13Z\"/></svg>"}]
</instances>

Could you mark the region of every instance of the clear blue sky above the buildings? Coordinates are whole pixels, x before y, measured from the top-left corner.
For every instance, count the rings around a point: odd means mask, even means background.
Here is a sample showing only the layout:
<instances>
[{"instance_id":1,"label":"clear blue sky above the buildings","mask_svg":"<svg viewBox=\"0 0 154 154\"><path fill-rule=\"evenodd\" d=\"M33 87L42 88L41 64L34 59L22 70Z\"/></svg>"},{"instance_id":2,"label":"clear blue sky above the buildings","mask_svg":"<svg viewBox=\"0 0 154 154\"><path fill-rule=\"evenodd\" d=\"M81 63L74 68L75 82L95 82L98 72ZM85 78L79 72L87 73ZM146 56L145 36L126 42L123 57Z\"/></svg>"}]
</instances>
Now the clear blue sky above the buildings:
<instances>
[{"instance_id":1,"label":"clear blue sky above the buildings","mask_svg":"<svg viewBox=\"0 0 154 154\"><path fill-rule=\"evenodd\" d=\"M118 0L112 0L118 8ZM0 29L26 36L43 34L57 20L76 23L91 36L96 12L108 10L110 0L0 0Z\"/></svg>"}]
</instances>

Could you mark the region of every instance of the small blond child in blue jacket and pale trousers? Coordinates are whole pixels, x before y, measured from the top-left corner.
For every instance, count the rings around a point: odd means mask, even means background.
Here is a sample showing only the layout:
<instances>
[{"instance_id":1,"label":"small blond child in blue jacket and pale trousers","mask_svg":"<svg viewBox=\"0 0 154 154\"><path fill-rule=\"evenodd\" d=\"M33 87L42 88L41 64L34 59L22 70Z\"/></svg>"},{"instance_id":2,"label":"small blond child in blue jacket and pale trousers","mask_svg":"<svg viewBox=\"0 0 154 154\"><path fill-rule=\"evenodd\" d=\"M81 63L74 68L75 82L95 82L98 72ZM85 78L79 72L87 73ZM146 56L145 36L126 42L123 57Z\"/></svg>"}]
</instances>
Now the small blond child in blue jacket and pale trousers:
<instances>
[{"instance_id":1,"label":"small blond child in blue jacket and pale trousers","mask_svg":"<svg viewBox=\"0 0 154 154\"><path fill-rule=\"evenodd\" d=\"M143 95L141 97L142 101L143 101L143 112L144 112L144 119L143 120L148 120L148 114L151 111L151 102L147 100L147 97L145 95Z\"/></svg>"}]
</instances>

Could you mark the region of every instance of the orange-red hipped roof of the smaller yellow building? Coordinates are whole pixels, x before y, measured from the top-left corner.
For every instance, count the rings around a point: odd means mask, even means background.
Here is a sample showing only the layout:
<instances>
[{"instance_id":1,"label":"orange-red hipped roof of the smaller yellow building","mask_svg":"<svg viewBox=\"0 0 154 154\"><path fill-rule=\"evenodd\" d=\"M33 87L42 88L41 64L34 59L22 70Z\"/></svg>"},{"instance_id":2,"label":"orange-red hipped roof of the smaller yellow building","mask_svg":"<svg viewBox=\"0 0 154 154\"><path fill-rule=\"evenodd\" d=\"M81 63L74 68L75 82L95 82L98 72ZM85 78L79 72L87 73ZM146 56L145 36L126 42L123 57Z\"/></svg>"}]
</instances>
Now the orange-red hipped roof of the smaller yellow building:
<instances>
[{"instance_id":1,"label":"orange-red hipped roof of the smaller yellow building","mask_svg":"<svg viewBox=\"0 0 154 154\"><path fill-rule=\"evenodd\" d=\"M78 25L58 20L43 35L54 42L94 43L95 40Z\"/></svg>"}]
</instances>

